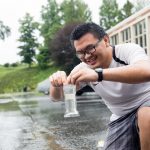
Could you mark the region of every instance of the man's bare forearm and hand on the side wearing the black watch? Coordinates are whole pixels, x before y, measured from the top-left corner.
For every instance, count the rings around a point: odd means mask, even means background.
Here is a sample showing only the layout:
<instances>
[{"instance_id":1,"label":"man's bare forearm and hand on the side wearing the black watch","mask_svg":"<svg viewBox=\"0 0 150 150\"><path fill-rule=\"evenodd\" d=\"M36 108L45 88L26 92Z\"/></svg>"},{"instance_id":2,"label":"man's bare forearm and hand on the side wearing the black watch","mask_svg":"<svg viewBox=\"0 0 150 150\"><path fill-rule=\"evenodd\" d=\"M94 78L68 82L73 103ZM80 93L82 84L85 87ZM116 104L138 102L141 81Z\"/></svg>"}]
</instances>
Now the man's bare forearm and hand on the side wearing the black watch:
<instances>
[{"instance_id":1,"label":"man's bare forearm and hand on the side wearing the black watch","mask_svg":"<svg viewBox=\"0 0 150 150\"><path fill-rule=\"evenodd\" d=\"M90 68L82 68L70 73L69 83L95 82L98 74ZM150 81L150 61L138 61L135 64L103 69L103 80L136 84Z\"/></svg>"}]
</instances>

